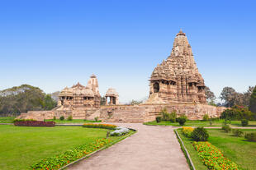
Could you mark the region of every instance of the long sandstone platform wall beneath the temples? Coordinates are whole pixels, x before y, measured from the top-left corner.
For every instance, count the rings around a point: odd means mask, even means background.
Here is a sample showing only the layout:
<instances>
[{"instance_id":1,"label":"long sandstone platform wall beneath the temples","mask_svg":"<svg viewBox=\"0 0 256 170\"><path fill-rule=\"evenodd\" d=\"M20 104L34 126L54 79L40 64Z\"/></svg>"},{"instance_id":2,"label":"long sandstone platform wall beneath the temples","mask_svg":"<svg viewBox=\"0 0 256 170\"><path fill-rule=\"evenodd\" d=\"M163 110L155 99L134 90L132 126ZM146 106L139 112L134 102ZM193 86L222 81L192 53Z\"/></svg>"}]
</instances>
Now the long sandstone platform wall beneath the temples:
<instances>
[{"instance_id":1,"label":"long sandstone platform wall beneath the temples","mask_svg":"<svg viewBox=\"0 0 256 170\"><path fill-rule=\"evenodd\" d=\"M99 117L103 122L150 122L159 116L162 109L168 113L177 112L178 116L185 114L190 120L201 120L205 114L209 117L220 117L225 108L201 103L168 103L141 105L111 105L97 108L58 108L52 111L31 111L21 113L17 118L33 118L36 120L53 119L64 116L73 119L94 119Z\"/></svg>"}]
</instances>

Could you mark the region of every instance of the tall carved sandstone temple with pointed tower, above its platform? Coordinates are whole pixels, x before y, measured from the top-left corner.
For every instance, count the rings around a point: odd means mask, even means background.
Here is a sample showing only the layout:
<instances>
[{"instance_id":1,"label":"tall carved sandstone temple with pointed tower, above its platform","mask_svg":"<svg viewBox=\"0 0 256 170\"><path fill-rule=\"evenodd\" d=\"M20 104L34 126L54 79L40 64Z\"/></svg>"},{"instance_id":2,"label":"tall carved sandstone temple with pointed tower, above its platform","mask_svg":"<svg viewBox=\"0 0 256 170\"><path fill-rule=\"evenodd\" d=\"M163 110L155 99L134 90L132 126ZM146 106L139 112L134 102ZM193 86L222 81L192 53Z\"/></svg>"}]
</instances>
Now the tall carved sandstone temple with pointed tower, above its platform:
<instances>
[{"instance_id":1,"label":"tall carved sandstone temple with pointed tower, above its platform","mask_svg":"<svg viewBox=\"0 0 256 170\"><path fill-rule=\"evenodd\" d=\"M154 68L149 81L147 103L206 103L205 83L182 30L176 34L171 55Z\"/></svg>"}]
</instances>

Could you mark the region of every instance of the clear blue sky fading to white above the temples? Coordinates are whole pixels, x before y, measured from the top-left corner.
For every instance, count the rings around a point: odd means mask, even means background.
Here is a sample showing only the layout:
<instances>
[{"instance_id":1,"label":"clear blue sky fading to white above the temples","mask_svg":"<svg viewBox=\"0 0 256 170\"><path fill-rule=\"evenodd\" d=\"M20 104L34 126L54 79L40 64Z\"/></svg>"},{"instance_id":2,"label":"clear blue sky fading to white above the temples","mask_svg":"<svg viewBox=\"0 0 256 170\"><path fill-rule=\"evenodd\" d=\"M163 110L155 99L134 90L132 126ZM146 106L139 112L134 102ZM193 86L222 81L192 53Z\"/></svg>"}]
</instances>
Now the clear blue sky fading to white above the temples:
<instances>
[{"instance_id":1,"label":"clear blue sky fading to white above the temples","mask_svg":"<svg viewBox=\"0 0 256 170\"><path fill-rule=\"evenodd\" d=\"M46 93L94 73L121 102L149 94L149 76L182 28L216 94L256 85L254 1L0 0L0 90L21 84Z\"/></svg>"}]
</instances>

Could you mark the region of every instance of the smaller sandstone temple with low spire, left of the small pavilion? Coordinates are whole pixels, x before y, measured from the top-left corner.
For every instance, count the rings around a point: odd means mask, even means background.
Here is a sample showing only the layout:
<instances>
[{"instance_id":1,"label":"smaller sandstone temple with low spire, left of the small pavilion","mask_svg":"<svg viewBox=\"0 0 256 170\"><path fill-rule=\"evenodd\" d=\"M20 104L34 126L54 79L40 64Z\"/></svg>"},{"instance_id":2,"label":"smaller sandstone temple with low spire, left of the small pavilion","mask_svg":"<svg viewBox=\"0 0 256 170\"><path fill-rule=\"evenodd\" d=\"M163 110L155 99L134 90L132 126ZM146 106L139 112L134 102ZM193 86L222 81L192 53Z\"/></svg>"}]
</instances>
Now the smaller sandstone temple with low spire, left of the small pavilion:
<instances>
[{"instance_id":1,"label":"smaller sandstone temple with low spire, left of the small pavilion","mask_svg":"<svg viewBox=\"0 0 256 170\"><path fill-rule=\"evenodd\" d=\"M65 87L59 94L58 105L64 108L100 108L100 100L97 77L92 75L87 86L78 82L71 88Z\"/></svg>"}]
</instances>

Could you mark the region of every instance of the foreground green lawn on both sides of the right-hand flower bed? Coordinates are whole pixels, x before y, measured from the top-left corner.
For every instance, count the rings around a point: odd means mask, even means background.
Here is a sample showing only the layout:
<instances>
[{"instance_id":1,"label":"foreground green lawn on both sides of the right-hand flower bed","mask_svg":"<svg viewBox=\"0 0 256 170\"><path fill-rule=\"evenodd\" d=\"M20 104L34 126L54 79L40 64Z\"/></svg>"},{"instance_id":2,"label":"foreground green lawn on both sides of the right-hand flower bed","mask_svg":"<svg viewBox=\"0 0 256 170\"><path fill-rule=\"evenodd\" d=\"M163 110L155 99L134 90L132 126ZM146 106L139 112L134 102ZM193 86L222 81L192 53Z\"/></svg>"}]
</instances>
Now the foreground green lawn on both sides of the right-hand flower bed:
<instances>
[{"instance_id":1,"label":"foreground green lawn on both sides of the right-hand flower bed","mask_svg":"<svg viewBox=\"0 0 256 170\"><path fill-rule=\"evenodd\" d=\"M225 157L231 159L241 167L241 169L253 170L256 167L256 142L244 140L244 137L232 136L232 133L225 133L217 129L207 129L210 134L209 142L221 149ZM256 130L244 129L244 132L256 132ZM197 155L197 151L192 146L192 140L183 136L181 129L178 129L178 134L183 139L183 143L187 148L192 162L197 170L207 169L201 163L201 159Z\"/></svg>"}]
</instances>

